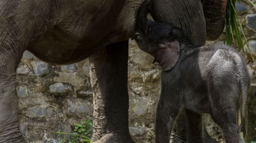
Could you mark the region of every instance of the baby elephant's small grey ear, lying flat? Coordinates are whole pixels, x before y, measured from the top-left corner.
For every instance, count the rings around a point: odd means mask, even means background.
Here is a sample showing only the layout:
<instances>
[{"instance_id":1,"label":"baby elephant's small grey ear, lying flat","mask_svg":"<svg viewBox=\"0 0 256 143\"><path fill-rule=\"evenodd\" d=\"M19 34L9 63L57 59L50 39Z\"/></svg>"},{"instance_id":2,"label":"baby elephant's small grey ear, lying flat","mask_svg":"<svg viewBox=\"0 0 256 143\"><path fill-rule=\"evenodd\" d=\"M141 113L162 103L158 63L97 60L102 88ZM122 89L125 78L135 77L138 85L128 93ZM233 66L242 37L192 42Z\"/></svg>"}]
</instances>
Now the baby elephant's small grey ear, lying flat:
<instances>
[{"instance_id":1,"label":"baby elephant's small grey ear, lying flat","mask_svg":"<svg viewBox=\"0 0 256 143\"><path fill-rule=\"evenodd\" d=\"M157 62L163 71L171 70L180 57L180 45L174 40L159 45L153 63Z\"/></svg>"}]
</instances>

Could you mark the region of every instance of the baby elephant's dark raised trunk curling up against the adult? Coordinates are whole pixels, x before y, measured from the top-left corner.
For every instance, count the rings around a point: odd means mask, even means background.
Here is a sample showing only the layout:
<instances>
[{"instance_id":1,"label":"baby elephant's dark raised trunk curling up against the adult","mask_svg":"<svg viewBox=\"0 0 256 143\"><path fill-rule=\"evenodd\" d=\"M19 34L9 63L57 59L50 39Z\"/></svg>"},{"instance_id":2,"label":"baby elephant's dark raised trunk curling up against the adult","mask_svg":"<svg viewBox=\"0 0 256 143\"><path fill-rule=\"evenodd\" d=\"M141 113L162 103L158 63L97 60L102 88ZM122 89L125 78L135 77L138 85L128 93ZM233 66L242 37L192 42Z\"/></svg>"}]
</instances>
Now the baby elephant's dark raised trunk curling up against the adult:
<instances>
[{"instance_id":1,"label":"baby elephant's dark raised trunk curling up against the adult","mask_svg":"<svg viewBox=\"0 0 256 143\"><path fill-rule=\"evenodd\" d=\"M146 0L139 8L138 14L137 14L137 26L140 29L145 30L146 27L146 21L147 21L147 14L148 14L148 7L151 4L150 0Z\"/></svg>"}]
</instances>

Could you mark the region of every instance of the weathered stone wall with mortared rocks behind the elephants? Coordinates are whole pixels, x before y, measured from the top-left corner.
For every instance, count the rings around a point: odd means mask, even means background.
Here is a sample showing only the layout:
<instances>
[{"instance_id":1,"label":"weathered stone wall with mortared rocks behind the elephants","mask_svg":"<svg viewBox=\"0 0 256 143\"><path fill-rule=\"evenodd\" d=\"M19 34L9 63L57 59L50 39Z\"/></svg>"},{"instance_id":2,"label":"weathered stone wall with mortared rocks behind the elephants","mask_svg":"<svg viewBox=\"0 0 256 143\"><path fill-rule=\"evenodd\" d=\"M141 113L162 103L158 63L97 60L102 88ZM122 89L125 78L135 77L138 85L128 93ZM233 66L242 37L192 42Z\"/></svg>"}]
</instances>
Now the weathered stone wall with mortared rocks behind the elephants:
<instances>
[{"instance_id":1,"label":"weathered stone wall with mortared rocks behind the elephants","mask_svg":"<svg viewBox=\"0 0 256 143\"><path fill-rule=\"evenodd\" d=\"M237 8L256 57L256 7L241 3ZM223 43L223 40L222 35L219 41L208 43ZM243 55L255 83L256 62ZM129 129L137 143L152 143L155 137L161 70L152 62L153 57L139 50L133 41L129 42ZM87 59L71 65L52 65L26 51L18 66L16 81L20 129L31 143L58 143L60 138L53 132L72 132L74 123L92 120L93 95ZM221 142L221 130L208 115L204 117L207 130Z\"/></svg>"}]
</instances>

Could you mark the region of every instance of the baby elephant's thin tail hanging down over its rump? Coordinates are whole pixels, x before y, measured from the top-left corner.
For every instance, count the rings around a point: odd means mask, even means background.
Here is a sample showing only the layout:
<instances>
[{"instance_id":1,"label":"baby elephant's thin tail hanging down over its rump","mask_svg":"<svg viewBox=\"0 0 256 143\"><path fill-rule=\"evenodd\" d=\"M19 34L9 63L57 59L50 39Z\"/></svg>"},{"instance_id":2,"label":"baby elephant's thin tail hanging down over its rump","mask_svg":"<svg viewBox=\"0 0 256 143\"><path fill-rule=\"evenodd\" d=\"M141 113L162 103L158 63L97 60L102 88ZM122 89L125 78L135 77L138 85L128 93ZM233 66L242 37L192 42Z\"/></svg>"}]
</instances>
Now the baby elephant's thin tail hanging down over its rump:
<instances>
[{"instance_id":1,"label":"baby elephant's thin tail hanging down over its rump","mask_svg":"<svg viewBox=\"0 0 256 143\"><path fill-rule=\"evenodd\" d=\"M247 71L247 68L244 66L243 70L239 72L240 86L241 86L241 97L242 97L242 106L241 106L241 124L238 127L238 132L243 132L243 137L245 137L245 111L247 104L247 91L250 85L250 78Z\"/></svg>"}]
</instances>

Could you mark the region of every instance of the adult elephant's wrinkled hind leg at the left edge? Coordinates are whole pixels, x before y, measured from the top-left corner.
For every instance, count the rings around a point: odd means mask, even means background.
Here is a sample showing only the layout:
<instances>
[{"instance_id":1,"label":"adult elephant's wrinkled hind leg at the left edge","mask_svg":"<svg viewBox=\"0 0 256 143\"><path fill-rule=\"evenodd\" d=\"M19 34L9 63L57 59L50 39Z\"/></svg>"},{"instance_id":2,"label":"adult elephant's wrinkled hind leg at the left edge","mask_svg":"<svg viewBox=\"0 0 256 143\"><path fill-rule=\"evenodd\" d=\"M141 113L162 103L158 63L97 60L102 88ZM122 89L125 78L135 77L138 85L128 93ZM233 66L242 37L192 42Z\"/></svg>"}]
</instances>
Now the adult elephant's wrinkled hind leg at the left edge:
<instances>
[{"instance_id":1,"label":"adult elephant's wrinkled hind leg at the left edge","mask_svg":"<svg viewBox=\"0 0 256 143\"><path fill-rule=\"evenodd\" d=\"M25 143L19 128L16 67L22 57L21 49L0 42L0 143Z\"/></svg>"}]
</instances>

